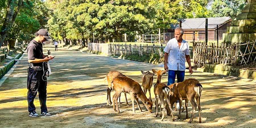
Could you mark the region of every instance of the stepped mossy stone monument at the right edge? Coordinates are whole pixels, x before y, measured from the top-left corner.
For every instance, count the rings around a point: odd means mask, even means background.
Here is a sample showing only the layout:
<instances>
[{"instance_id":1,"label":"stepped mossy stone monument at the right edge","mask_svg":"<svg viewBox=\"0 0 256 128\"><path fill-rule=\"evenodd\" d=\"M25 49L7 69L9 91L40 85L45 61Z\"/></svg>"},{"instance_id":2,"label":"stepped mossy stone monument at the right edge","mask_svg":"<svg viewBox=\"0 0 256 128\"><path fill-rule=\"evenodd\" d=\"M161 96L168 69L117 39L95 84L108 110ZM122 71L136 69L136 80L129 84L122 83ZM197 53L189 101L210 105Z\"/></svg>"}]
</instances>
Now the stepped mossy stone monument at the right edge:
<instances>
[{"instance_id":1,"label":"stepped mossy stone monument at the right edge","mask_svg":"<svg viewBox=\"0 0 256 128\"><path fill-rule=\"evenodd\" d=\"M256 39L256 0L248 0L242 13L236 16L223 33L222 42L246 43Z\"/></svg>"}]
</instances>

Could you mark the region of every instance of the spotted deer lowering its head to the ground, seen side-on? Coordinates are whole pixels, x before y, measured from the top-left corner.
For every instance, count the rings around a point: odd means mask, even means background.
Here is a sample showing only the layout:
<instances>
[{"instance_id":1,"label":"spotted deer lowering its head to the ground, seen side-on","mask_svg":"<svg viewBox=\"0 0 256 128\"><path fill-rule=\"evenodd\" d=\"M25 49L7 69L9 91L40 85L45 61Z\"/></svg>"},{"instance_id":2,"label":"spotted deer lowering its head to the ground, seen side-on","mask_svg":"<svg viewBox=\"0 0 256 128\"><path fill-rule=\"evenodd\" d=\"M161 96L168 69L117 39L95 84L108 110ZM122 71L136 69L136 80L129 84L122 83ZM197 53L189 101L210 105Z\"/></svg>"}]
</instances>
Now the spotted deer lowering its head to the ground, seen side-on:
<instances>
[{"instance_id":1,"label":"spotted deer lowering its head to the ground, seen side-on","mask_svg":"<svg viewBox=\"0 0 256 128\"><path fill-rule=\"evenodd\" d=\"M122 92L129 93L131 96L131 101L133 103L133 112L134 109L134 99L137 102L139 110L142 112L141 107L139 105L138 98L144 103L146 109L152 113L152 99L151 97L147 98L141 89L141 85L138 82L135 82L133 79L129 77L117 77L111 82L112 88L115 89L115 94L113 95L113 109L118 113L119 111L117 105L117 99L121 95Z\"/></svg>"}]
</instances>

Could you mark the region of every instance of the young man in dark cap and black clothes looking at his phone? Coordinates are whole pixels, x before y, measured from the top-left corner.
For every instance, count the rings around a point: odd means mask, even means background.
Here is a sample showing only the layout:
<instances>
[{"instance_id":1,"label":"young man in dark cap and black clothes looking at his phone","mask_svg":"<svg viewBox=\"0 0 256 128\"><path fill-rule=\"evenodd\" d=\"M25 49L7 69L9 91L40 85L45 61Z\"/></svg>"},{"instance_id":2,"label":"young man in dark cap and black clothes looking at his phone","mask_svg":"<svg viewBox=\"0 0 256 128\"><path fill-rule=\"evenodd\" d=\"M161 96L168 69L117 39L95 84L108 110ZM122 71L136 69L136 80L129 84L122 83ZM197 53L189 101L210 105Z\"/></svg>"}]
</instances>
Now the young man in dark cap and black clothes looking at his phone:
<instances>
[{"instance_id":1,"label":"young man in dark cap and black clothes looking at his phone","mask_svg":"<svg viewBox=\"0 0 256 128\"><path fill-rule=\"evenodd\" d=\"M37 92L39 93L39 101L41 105L41 115L49 116L51 115L47 111L46 107L46 86L47 79L43 70L43 62L48 62L53 59L53 55L44 55L43 54L43 42L46 39L50 39L47 30L40 29L36 33L36 37L28 44L28 79L27 79L27 88L28 88L28 112L30 117L38 117L36 113L36 107L34 105L34 98L36 97Z\"/></svg>"}]
</instances>

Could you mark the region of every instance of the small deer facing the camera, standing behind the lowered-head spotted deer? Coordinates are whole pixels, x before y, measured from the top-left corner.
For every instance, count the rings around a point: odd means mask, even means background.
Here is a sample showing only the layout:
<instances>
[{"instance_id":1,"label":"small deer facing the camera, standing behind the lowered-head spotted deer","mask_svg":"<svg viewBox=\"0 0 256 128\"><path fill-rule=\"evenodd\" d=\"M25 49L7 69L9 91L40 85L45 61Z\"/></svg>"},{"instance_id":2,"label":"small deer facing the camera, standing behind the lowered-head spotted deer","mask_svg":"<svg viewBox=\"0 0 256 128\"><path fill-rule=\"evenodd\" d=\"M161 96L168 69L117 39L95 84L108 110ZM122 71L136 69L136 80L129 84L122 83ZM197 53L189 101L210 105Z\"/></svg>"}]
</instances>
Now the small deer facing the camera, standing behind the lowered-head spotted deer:
<instances>
[{"instance_id":1,"label":"small deer facing the camera, standing behind the lowered-head spotted deer","mask_svg":"<svg viewBox=\"0 0 256 128\"><path fill-rule=\"evenodd\" d=\"M149 96L151 97L150 94L150 88L152 87L152 83L153 83L153 76L155 75L154 73L150 73L149 71L144 72L141 70L141 73L144 74L143 78L142 78L142 86L143 86L143 91L146 95L147 90L149 92Z\"/></svg>"}]
</instances>

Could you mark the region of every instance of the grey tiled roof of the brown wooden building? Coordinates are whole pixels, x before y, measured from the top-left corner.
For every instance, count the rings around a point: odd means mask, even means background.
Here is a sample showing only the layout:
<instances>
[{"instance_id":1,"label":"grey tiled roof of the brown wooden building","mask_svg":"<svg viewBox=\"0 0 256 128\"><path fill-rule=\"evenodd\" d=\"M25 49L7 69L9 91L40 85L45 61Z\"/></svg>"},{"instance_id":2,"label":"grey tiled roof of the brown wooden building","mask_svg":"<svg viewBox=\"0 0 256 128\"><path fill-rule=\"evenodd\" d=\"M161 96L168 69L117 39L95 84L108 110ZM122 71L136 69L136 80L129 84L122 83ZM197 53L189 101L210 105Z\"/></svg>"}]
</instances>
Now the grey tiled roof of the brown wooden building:
<instances>
[{"instance_id":1,"label":"grey tiled roof of the brown wooden building","mask_svg":"<svg viewBox=\"0 0 256 128\"><path fill-rule=\"evenodd\" d=\"M215 17L208 18L208 29L216 28L216 25L220 25L229 21L230 17ZM182 21L181 28L183 29L205 29L205 18L190 18L190 19L178 19ZM170 29L179 27L179 24L170 24Z\"/></svg>"}]
</instances>

